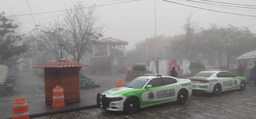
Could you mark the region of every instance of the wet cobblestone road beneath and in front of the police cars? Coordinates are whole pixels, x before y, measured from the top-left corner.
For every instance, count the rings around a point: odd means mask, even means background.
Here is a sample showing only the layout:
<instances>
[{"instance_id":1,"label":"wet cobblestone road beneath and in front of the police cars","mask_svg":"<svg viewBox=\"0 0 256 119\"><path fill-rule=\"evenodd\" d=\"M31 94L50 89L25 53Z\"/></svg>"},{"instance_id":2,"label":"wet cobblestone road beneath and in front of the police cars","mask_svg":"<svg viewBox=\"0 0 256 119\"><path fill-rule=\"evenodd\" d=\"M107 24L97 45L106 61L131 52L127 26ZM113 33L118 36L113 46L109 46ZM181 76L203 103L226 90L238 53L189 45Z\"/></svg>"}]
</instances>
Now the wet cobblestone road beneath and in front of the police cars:
<instances>
[{"instance_id":1,"label":"wet cobblestone road beneath and in front of the police cars","mask_svg":"<svg viewBox=\"0 0 256 119\"><path fill-rule=\"evenodd\" d=\"M256 119L256 87L227 91L219 97L192 95L185 104L166 103L140 109L133 115L100 108L38 117L39 119Z\"/></svg>"}]
</instances>

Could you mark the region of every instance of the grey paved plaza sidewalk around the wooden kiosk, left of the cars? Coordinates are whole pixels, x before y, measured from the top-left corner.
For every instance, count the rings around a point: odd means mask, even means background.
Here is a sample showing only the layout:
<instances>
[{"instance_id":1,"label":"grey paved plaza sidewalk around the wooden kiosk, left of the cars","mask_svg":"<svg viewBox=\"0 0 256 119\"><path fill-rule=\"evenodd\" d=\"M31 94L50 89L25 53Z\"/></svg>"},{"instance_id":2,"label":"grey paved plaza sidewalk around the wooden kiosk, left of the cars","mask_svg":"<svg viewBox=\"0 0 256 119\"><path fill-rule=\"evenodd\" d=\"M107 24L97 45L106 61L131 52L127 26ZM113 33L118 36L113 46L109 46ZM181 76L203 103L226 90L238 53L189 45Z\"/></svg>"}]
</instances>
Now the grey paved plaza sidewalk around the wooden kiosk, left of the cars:
<instances>
[{"instance_id":1,"label":"grey paved plaza sidewalk around the wooden kiosk, left of the cars","mask_svg":"<svg viewBox=\"0 0 256 119\"><path fill-rule=\"evenodd\" d=\"M12 118L12 102L21 97L28 100L30 117L96 107L97 93L114 88L116 81L125 78L125 74L87 75L87 77L97 81L96 84L101 87L80 89L80 103L68 104L62 109L53 109L52 105L45 105L44 81L31 73L20 73L13 87L14 95L0 97L0 119Z\"/></svg>"}]
</instances>

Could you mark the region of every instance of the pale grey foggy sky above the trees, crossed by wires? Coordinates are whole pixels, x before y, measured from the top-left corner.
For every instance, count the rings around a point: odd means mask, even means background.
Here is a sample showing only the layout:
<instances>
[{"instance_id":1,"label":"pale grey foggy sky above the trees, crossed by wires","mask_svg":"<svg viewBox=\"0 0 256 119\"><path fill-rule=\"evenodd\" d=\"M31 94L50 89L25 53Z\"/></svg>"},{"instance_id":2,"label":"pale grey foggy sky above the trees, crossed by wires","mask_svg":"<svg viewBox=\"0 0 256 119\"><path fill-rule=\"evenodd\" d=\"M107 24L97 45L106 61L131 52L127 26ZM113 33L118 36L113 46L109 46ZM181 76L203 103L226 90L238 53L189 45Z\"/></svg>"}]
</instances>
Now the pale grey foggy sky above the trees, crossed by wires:
<instances>
[{"instance_id":1,"label":"pale grey foggy sky above the trees, crossed by wires","mask_svg":"<svg viewBox=\"0 0 256 119\"><path fill-rule=\"evenodd\" d=\"M79 0L28 0L32 13L50 12L65 10L65 3L67 6L72 6L72 1ZM106 2L106 4L124 2L128 0L83 0L85 4L100 5ZM255 11L242 11L231 10L227 8L218 8L211 6L204 6L198 4L192 4L182 2L178 0L169 0L173 2L183 3L191 6L197 6L201 8L207 8L216 11L231 12L236 14L254 15L256 16L256 9L239 8ZM199 0L195 0L199 1ZM236 3L236 4L248 4L256 5L256 0L211 0L218 2ZM203 1L201 1L203 2ZM104 37L113 37L121 40L128 41L129 45L126 50L134 49L139 41L145 40L155 36L155 7L154 0L142 0L129 3L107 5L96 7L96 14L101 19L99 24L106 24L108 28L104 34ZM217 6L217 5L215 5ZM236 5L238 6L238 5ZM225 7L225 6L222 6ZM250 7L250 6L249 6ZM252 6L251 6L252 7ZM237 8L237 7L230 7ZM255 7L256 8L256 7ZM26 0L0 0L0 12L5 11L5 16L30 14L28 4ZM156 30L157 35L163 35L164 37L171 37L174 35L184 34L182 29L183 24L186 21L186 16L189 12L192 12L192 21L198 21L198 27L209 28L210 23L216 23L219 26L226 27L228 24L236 27L249 27L253 33L256 33L255 21L256 17L231 15L226 13L218 13L213 11L201 10L189 6L174 4L165 2L162 0L156 0ZM63 19L65 15L53 18L42 19L46 17L52 17L56 15L64 14L64 12L46 13L33 15L36 20L36 24L39 22L50 22L53 19ZM18 16L16 18L8 17L10 19L18 19L13 23L20 23L31 21L32 16ZM42 19L42 20L37 20ZM21 32L31 31L35 28L34 22L18 24Z\"/></svg>"}]
</instances>

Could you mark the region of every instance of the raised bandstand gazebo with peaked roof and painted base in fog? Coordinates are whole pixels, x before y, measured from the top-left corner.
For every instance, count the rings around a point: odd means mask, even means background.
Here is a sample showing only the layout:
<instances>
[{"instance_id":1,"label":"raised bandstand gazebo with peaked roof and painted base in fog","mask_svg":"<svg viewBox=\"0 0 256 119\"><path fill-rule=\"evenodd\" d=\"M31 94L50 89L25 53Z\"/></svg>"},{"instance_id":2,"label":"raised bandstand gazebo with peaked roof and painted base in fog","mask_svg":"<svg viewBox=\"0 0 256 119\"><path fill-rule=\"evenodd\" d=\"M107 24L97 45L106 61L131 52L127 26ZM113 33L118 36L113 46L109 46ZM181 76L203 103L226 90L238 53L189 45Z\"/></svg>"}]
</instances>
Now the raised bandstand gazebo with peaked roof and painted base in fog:
<instances>
[{"instance_id":1,"label":"raised bandstand gazebo with peaked roof and painted base in fog","mask_svg":"<svg viewBox=\"0 0 256 119\"><path fill-rule=\"evenodd\" d=\"M128 42L112 37L98 40L93 47L93 72L117 73L126 65L125 46Z\"/></svg>"}]
</instances>

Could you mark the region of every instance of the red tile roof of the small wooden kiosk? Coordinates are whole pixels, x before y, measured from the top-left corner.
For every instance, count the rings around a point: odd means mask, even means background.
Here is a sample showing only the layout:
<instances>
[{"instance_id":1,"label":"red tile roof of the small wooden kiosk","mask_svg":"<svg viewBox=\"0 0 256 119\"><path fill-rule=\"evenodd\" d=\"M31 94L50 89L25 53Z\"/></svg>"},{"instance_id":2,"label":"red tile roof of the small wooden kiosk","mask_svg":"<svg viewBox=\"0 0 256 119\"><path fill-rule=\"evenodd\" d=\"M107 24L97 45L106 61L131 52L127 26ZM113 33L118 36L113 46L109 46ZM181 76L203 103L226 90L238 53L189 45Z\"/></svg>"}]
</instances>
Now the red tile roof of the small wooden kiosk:
<instances>
[{"instance_id":1,"label":"red tile roof of the small wooden kiosk","mask_svg":"<svg viewBox=\"0 0 256 119\"><path fill-rule=\"evenodd\" d=\"M35 66L33 68L62 68L62 67L87 67L87 65L61 59L53 63L43 64L43 65Z\"/></svg>"}]
</instances>

